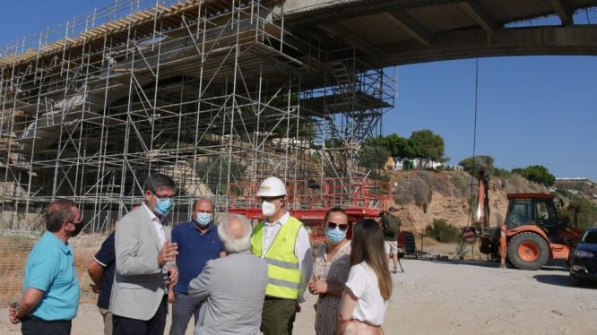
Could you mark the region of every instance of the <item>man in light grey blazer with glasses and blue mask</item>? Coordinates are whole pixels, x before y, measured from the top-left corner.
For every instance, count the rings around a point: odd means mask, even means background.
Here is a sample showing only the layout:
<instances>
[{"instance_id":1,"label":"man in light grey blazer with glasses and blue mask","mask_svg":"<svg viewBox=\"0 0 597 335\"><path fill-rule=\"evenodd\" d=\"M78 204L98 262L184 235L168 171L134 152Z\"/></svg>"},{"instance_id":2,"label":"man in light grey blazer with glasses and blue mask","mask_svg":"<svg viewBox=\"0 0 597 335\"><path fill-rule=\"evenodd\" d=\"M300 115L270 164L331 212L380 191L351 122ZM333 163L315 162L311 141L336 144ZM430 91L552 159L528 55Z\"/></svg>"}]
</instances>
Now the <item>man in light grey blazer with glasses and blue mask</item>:
<instances>
[{"instance_id":1,"label":"man in light grey blazer with glasses and blue mask","mask_svg":"<svg viewBox=\"0 0 597 335\"><path fill-rule=\"evenodd\" d=\"M152 173L143 187L144 202L117 224L116 275L109 310L116 335L163 335L168 314L166 285L176 283L177 245L169 241L166 216L177 185Z\"/></svg>"}]
</instances>

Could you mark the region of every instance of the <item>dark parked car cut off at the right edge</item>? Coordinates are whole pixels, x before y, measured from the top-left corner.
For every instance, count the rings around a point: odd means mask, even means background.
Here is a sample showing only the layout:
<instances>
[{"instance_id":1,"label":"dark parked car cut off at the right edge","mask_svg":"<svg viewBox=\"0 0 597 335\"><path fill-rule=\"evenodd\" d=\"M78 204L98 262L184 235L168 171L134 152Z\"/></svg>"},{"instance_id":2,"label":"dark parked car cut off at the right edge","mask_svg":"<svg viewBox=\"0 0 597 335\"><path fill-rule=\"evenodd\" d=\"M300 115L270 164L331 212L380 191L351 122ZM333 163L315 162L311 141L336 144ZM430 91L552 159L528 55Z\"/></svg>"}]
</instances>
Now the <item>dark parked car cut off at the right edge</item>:
<instances>
[{"instance_id":1,"label":"dark parked car cut off at the right edge","mask_svg":"<svg viewBox=\"0 0 597 335\"><path fill-rule=\"evenodd\" d=\"M570 259L570 285L597 280L597 227L587 228Z\"/></svg>"}]
</instances>

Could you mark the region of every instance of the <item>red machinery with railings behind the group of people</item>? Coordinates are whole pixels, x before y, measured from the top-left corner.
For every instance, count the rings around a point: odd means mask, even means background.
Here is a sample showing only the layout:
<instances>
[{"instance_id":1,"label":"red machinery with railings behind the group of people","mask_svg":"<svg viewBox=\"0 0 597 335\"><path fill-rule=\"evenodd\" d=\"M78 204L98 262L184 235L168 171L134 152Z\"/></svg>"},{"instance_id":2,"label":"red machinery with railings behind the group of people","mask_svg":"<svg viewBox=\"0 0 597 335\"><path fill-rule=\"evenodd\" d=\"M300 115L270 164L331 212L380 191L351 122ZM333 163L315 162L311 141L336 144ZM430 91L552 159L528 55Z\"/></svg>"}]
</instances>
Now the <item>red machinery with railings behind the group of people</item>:
<instances>
[{"instance_id":1,"label":"red machinery with railings behind the group of people","mask_svg":"<svg viewBox=\"0 0 597 335\"><path fill-rule=\"evenodd\" d=\"M261 202L255 195L259 183L231 183L229 185L229 212L245 215L247 219L264 219ZM346 210L352 233L352 223L363 218L377 218L385 210L390 198L389 183L362 178L322 178L315 180L290 180L286 184L290 215L311 228L315 240L323 240L325 212L333 207Z\"/></svg>"}]
</instances>

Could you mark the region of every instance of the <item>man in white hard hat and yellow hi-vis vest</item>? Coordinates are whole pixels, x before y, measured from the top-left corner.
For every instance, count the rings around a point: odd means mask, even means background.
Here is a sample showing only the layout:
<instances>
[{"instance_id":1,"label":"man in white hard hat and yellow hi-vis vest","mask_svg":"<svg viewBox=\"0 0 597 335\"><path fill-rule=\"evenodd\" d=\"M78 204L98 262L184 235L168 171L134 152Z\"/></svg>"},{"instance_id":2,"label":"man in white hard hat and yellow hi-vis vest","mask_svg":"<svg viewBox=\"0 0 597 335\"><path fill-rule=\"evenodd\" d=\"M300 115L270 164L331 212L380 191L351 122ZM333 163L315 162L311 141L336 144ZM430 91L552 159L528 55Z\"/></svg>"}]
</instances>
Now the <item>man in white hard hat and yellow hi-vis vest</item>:
<instances>
[{"instance_id":1,"label":"man in white hard hat and yellow hi-vis vest","mask_svg":"<svg viewBox=\"0 0 597 335\"><path fill-rule=\"evenodd\" d=\"M251 236L251 253L267 263L261 331L264 335L292 334L299 303L313 269L307 229L286 210L286 185L274 176L263 181L257 196L265 219Z\"/></svg>"}]
</instances>

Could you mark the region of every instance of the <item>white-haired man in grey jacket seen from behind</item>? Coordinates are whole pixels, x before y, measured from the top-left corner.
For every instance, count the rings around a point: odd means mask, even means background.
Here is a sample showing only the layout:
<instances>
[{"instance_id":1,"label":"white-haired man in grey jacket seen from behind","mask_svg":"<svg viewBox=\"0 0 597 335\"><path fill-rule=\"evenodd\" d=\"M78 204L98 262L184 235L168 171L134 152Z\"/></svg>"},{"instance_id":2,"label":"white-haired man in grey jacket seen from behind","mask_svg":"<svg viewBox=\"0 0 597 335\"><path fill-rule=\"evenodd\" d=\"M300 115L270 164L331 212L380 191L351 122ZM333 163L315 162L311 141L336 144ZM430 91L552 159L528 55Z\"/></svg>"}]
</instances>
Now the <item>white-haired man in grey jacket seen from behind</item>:
<instances>
[{"instance_id":1,"label":"white-haired man in grey jacket seen from behind","mask_svg":"<svg viewBox=\"0 0 597 335\"><path fill-rule=\"evenodd\" d=\"M188 286L195 303L203 302L195 335L261 334L267 264L249 251L252 233L239 215L229 215L218 226L228 257L207 262Z\"/></svg>"}]
</instances>

